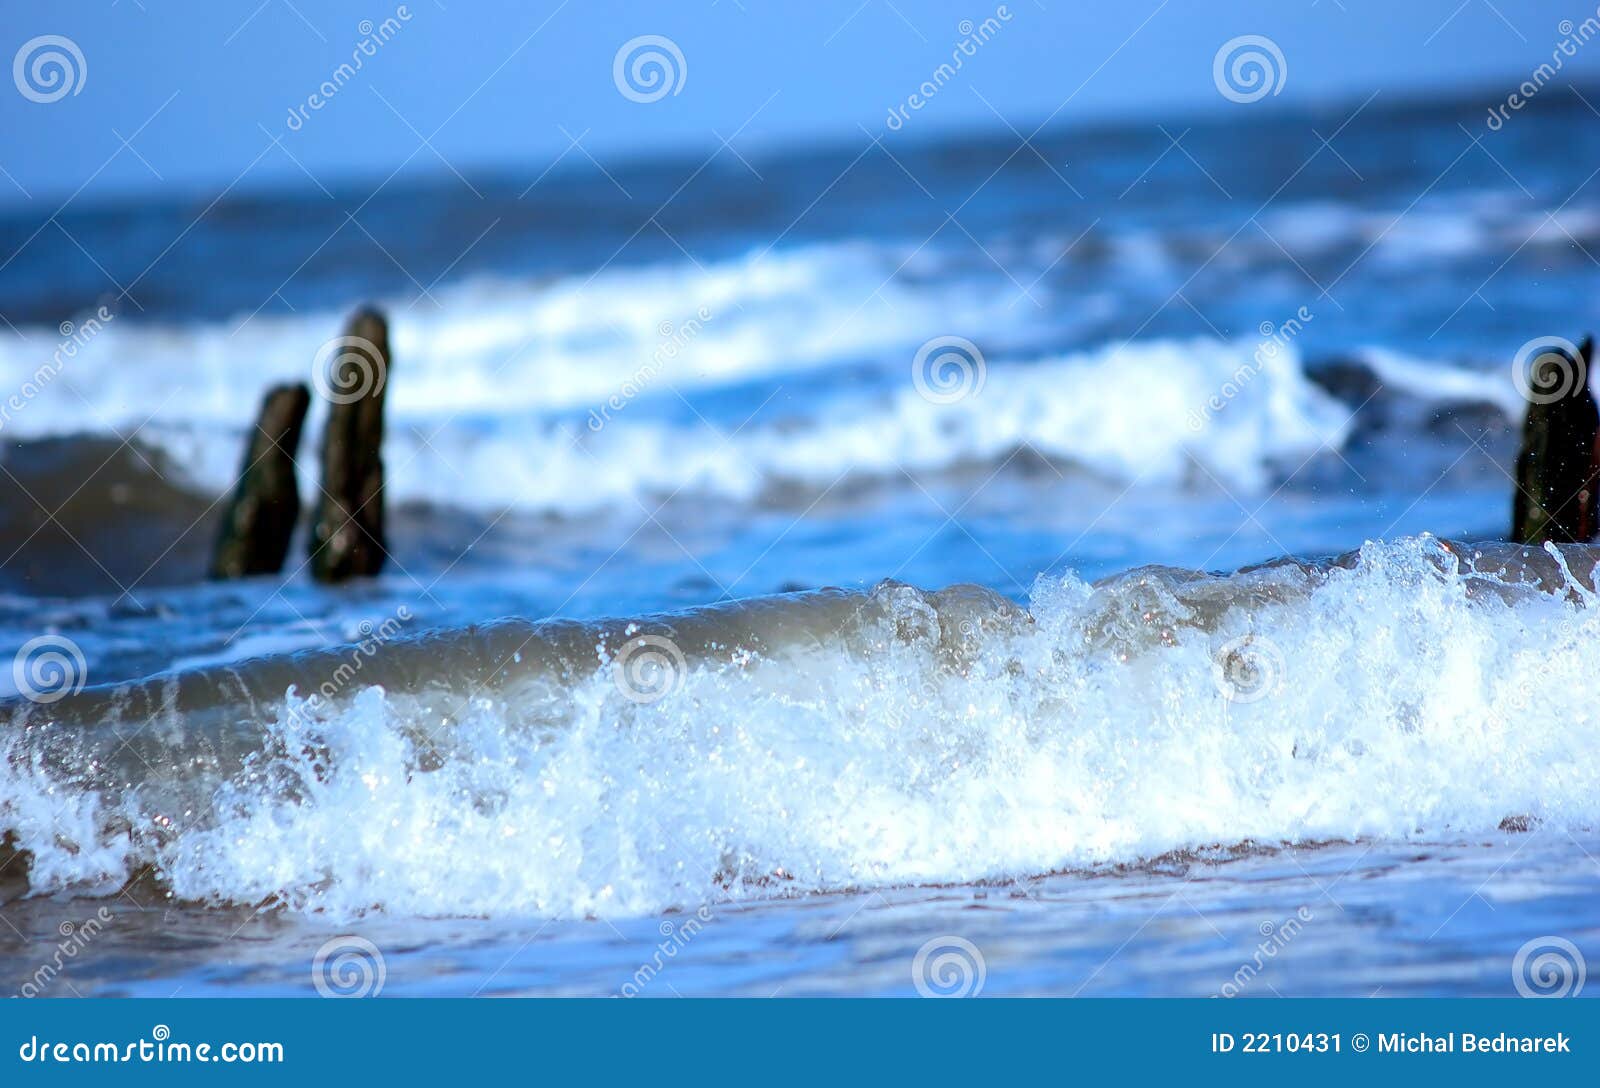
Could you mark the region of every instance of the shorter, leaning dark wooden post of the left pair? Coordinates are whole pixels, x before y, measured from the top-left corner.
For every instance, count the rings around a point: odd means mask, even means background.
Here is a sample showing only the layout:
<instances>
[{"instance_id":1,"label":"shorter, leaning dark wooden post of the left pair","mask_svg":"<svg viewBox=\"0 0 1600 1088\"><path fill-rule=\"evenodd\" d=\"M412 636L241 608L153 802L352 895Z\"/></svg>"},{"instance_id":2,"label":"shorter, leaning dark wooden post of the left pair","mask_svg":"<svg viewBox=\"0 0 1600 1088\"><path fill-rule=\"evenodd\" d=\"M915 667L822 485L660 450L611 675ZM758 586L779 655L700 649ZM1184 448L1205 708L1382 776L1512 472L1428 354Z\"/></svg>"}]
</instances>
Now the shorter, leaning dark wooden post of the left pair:
<instances>
[{"instance_id":1,"label":"shorter, leaning dark wooden post of the left pair","mask_svg":"<svg viewBox=\"0 0 1600 1088\"><path fill-rule=\"evenodd\" d=\"M245 443L234 501L211 555L211 578L277 574L299 522L294 451L310 392L302 384L274 386L261 402L256 429Z\"/></svg>"}]
</instances>

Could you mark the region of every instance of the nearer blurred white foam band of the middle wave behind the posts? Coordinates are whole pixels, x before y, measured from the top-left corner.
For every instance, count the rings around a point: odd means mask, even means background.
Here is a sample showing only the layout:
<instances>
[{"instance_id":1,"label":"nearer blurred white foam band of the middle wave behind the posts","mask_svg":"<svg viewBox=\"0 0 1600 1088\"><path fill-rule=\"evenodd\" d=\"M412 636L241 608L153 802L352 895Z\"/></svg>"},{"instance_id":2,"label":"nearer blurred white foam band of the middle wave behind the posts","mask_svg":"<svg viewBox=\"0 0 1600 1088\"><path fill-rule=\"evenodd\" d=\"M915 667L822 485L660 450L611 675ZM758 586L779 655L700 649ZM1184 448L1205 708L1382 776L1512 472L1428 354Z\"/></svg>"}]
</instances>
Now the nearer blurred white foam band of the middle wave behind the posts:
<instances>
[{"instance_id":1,"label":"nearer blurred white foam band of the middle wave behind the posts","mask_svg":"<svg viewBox=\"0 0 1600 1088\"><path fill-rule=\"evenodd\" d=\"M598 429L592 418L539 411L400 424L387 438L387 490L395 501L582 512L670 494L750 501L846 477L998 464L1021 450L1128 483L1173 485L1200 466L1229 488L1254 490L1275 466L1338 450L1349 429L1349 410L1306 378L1291 346L1261 360L1256 347L1147 341L990 363L982 390L955 403L917 392L907 354L894 384L822 395L805 413L786 405L773 421L739 427L637 408ZM232 429L146 434L200 486L230 485Z\"/></svg>"}]
</instances>

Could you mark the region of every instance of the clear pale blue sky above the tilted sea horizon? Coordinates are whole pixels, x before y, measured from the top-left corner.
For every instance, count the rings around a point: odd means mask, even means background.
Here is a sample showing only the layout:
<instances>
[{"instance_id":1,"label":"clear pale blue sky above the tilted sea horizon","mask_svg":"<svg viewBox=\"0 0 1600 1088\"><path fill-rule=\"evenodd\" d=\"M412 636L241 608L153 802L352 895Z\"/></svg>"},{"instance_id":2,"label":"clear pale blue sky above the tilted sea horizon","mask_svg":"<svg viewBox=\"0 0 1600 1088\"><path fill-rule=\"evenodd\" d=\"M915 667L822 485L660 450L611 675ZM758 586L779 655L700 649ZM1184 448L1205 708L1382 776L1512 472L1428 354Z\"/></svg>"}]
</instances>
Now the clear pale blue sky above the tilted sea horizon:
<instances>
[{"instance_id":1,"label":"clear pale blue sky above the tilted sea horizon","mask_svg":"<svg viewBox=\"0 0 1600 1088\"><path fill-rule=\"evenodd\" d=\"M0 93L0 203L40 214L147 192L382 181L392 173L611 163L662 152L739 154L867 134L1032 131L1138 115L1274 109L1309 99L1510 91L1595 14L1557 0L1011 0L1010 18L899 131L891 107L949 61L989 0L5 0L3 54L61 35L83 56L78 93ZM363 21L390 40L298 126L290 114L358 51ZM629 101L619 46L670 38L677 94ZM1282 51L1282 93L1218 94L1213 58L1238 35ZM1600 72L1600 42L1563 78ZM3 85L0 85L3 86ZM866 133L862 131L866 130ZM277 139L278 142L274 142ZM126 142L123 142L126 141ZM576 141L576 142L574 142ZM307 176L309 174L309 176Z\"/></svg>"}]
</instances>

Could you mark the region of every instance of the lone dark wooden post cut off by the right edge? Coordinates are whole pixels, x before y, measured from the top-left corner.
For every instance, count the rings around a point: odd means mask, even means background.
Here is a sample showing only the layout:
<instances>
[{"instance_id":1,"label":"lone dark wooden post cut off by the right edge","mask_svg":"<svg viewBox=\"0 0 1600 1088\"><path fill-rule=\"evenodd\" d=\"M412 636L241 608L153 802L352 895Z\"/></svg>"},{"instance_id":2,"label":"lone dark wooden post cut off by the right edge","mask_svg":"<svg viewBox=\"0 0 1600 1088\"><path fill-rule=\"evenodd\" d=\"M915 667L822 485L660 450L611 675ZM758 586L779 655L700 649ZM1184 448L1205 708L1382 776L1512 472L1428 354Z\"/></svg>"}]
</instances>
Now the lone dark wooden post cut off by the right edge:
<instances>
[{"instance_id":1,"label":"lone dark wooden post cut off by the right edge","mask_svg":"<svg viewBox=\"0 0 1600 1088\"><path fill-rule=\"evenodd\" d=\"M1568 344L1568 347L1571 347ZM1576 358L1544 347L1528 363L1528 414L1517 454L1510 539L1518 544L1573 544L1595 536L1600 499L1600 410L1589 390L1594 338Z\"/></svg>"}]
</instances>

